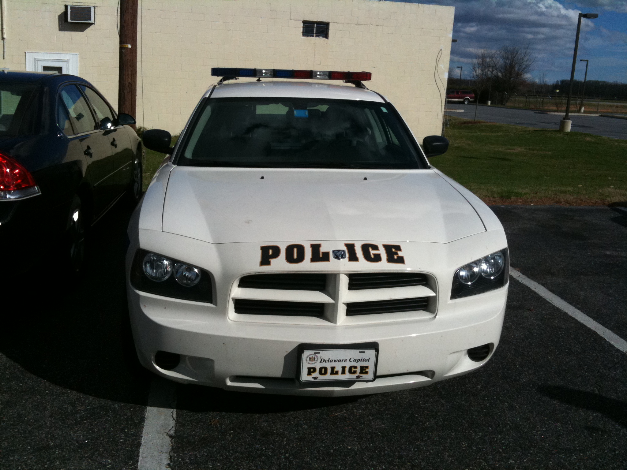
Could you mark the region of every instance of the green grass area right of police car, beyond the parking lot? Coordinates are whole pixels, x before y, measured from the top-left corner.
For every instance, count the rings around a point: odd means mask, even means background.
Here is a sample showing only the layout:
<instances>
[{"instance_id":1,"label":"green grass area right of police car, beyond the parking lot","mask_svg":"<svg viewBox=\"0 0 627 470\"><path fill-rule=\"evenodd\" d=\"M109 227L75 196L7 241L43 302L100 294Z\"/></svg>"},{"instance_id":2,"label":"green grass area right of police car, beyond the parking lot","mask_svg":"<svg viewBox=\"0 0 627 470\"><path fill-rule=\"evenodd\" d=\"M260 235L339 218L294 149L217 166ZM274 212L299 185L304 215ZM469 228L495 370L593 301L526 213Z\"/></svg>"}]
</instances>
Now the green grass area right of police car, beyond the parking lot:
<instances>
[{"instance_id":1,"label":"green grass area right of police car, beyond the parking lot","mask_svg":"<svg viewBox=\"0 0 627 470\"><path fill-rule=\"evenodd\" d=\"M431 164L492 204L627 201L627 140L450 118Z\"/></svg>"}]
</instances>

